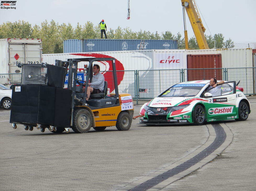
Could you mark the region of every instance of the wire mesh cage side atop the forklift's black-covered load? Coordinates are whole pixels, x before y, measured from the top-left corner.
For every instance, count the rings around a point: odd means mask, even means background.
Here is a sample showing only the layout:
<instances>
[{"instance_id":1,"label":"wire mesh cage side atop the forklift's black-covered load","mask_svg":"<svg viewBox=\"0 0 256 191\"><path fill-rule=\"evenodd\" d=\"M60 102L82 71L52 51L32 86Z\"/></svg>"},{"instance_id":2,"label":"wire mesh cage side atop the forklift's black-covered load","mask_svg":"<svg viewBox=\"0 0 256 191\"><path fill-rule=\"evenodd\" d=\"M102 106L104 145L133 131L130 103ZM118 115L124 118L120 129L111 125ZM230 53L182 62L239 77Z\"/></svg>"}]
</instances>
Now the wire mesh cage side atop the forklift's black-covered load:
<instances>
[{"instance_id":1,"label":"wire mesh cage side atop the forklift's black-covered load","mask_svg":"<svg viewBox=\"0 0 256 191\"><path fill-rule=\"evenodd\" d=\"M47 66L41 64L23 64L22 85L46 85L47 84Z\"/></svg>"}]
</instances>

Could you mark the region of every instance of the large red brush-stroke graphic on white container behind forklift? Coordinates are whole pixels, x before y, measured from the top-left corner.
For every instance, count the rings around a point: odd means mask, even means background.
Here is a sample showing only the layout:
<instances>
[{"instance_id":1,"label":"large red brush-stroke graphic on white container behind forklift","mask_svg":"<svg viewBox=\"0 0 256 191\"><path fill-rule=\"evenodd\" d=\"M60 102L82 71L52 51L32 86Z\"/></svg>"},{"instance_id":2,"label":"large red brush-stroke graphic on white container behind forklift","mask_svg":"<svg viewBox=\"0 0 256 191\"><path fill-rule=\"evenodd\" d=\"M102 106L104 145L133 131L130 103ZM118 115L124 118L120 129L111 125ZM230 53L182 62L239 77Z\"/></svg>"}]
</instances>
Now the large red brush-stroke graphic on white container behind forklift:
<instances>
[{"instance_id":1,"label":"large red brush-stroke graphic on white container behind forklift","mask_svg":"<svg viewBox=\"0 0 256 191\"><path fill-rule=\"evenodd\" d=\"M105 55L105 54L97 54L97 53L76 53L76 54L72 54L72 55L93 57L93 58L113 58L113 57ZM107 62L109 64L108 70L113 71L112 64L110 64L111 61L99 61L99 62L101 62L103 65L106 65L105 62ZM119 60L115 59L115 67L116 67L117 71L119 70L118 74L117 74L117 84L119 85L124 78L124 66ZM111 93L115 89L113 81L109 81L109 79L113 79L112 72L105 72L103 74L103 76L105 78L105 81L108 82L108 88L110 89L109 92Z\"/></svg>"}]
</instances>

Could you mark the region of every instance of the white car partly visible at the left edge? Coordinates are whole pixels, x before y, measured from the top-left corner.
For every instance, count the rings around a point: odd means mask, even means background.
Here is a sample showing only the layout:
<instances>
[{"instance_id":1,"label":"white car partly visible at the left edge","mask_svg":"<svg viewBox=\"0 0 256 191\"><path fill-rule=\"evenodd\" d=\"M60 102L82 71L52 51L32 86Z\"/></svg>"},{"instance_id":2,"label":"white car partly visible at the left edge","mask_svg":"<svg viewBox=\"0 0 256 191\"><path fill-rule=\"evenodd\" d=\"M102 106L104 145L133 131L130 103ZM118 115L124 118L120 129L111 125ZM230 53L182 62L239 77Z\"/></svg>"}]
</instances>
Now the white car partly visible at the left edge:
<instances>
[{"instance_id":1,"label":"white car partly visible at the left edge","mask_svg":"<svg viewBox=\"0 0 256 191\"><path fill-rule=\"evenodd\" d=\"M11 109L12 90L3 84L0 84L0 107Z\"/></svg>"}]
</instances>

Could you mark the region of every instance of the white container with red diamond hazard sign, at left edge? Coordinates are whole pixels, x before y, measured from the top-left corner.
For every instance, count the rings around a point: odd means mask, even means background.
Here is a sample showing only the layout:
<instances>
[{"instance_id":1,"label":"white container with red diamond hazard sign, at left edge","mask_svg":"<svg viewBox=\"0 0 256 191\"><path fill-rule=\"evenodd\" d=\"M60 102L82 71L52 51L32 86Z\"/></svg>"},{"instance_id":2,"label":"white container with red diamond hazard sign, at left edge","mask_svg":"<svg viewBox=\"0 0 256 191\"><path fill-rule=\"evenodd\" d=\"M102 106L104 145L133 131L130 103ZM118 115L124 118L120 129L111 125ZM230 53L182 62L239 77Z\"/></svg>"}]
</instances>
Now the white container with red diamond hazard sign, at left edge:
<instances>
[{"instance_id":1,"label":"white container with red diamond hazard sign, at left edge","mask_svg":"<svg viewBox=\"0 0 256 191\"><path fill-rule=\"evenodd\" d=\"M0 39L0 73L21 73L18 63L42 62L42 39Z\"/></svg>"}]
</instances>

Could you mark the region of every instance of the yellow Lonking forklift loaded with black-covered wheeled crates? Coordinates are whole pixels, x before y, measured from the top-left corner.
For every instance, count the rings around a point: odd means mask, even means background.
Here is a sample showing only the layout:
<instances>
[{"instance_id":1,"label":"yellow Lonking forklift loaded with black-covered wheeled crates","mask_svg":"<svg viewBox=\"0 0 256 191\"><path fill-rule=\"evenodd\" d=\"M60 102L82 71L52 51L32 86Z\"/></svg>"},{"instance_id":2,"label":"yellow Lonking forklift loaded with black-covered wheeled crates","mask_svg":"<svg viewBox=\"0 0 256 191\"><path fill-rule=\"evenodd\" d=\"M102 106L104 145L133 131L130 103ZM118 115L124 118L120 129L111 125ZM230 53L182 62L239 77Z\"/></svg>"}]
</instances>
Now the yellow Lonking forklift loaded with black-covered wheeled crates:
<instances>
[{"instance_id":1,"label":"yellow Lonking forklift loaded with black-covered wheeled crates","mask_svg":"<svg viewBox=\"0 0 256 191\"><path fill-rule=\"evenodd\" d=\"M107 62L112 71L105 71L109 73L108 79L105 77L103 93L91 94L86 101L95 61ZM79 62L87 63L84 64L85 81L77 78ZM96 131L110 126L116 126L119 131L130 129L134 112L132 96L118 92L114 58L55 60L55 66L42 63L36 72L32 65L21 66L21 84L12 90L10 123L14 129L18 124L23 124L25 130L32 131L36 127L44 132L48 128L53 133L68 133L70 128L77 133L87 133L91 127ZM26 67L30 68L29 71ZM45 68L47 72L42 74ZM68 86L64 89L67 73ZM112 87L110 94L107 94L108 83Z\"/></svg>"}]
</instances>

